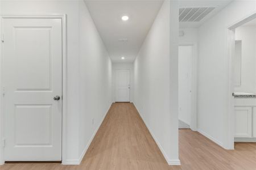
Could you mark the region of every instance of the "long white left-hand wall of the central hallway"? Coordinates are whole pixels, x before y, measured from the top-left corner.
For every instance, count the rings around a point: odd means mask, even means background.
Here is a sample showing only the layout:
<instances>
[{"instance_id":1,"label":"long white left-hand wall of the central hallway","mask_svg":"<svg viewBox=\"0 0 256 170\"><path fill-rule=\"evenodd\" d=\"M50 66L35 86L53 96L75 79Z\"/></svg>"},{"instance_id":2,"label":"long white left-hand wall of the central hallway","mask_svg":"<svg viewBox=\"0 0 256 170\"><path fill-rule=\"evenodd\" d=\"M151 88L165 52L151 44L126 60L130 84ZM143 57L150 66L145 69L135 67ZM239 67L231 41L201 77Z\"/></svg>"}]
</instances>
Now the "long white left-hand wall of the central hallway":
<instances>
[{"instance_id":1,"label":"long white left-hand wall of the central hallway","mask_svg":"<svg viewBox=\"0 0 256 170\"><path fill-rule=\"evenodd\" d=\"M112 104L112 62L84 1L79 2L79 155Z\"/></svg>"}]
</instances>

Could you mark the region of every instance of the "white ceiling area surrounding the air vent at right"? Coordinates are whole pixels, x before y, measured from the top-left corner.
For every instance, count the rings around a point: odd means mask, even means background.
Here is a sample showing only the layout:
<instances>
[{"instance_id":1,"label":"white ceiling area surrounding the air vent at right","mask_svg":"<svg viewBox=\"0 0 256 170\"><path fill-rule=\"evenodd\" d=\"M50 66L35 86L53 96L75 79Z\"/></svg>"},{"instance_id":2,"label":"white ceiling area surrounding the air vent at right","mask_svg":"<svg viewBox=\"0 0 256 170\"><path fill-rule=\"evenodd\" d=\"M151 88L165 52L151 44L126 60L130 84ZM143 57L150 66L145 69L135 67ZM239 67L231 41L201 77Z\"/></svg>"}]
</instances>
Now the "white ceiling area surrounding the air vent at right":
<instances>
[{"instance_id":1,"label":"white ceiling area surrounding the air vent at right","mask_svg":"<svg viewBox=\"0 0 256 170\"><path fill-rule=\"evenodd\" d=\"M233 0L180 0L179 8L213 8L207 15L204 16L200 21L197 22L180 22L180 28L197 28L200 27L206 20L211 18L220 12L224 7L226 7ZM181 11L181 10L180 10ZM206 11L207 12L207 11ZM189 12L188 12L189 15ZM200 16L199 16L200 18Z\"/></svg>"}]
</instances>

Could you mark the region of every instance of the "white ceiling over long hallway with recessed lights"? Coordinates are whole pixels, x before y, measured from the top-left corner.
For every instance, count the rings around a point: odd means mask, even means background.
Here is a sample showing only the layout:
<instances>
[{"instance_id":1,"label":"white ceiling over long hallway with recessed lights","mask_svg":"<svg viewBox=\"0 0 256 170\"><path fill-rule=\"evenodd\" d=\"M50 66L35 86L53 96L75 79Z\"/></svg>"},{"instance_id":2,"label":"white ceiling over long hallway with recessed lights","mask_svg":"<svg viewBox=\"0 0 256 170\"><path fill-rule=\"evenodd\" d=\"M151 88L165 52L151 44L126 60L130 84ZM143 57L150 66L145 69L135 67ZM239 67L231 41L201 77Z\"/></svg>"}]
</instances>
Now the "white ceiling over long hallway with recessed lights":
<instances>
[{"instance_id":1,"label":"white ceiling over long hallway with recessed lights","mask_svg":"<svg viewBox=\"0 0 256 170\"><path fill-rule=\"evenodd\" d=\"M163 1L85 1L113 62L133 62ZM123 21L123 15L129 20ZM125 57L125 59L121 59Z\"/></svg>"}]
</instances>

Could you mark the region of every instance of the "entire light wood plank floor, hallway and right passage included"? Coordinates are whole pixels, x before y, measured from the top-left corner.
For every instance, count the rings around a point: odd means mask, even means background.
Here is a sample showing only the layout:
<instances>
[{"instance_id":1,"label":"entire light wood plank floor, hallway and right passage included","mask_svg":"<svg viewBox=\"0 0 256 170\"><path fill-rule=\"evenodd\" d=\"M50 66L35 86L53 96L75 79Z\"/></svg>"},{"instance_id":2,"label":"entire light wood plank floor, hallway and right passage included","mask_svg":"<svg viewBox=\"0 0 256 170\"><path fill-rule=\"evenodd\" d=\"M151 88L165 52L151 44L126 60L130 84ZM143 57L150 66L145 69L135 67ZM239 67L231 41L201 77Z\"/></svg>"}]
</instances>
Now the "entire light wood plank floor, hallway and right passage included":
<instances>
[{"instance_id":1,"label":"entire light wood plank floor, hallway and right passage included","mask_svg":"<svg viewBox=\"0 0 256 170\"><path fill-rule=\"evenodd\" d=\"M115 103L80 165L5 164L0 169L256 169L256 144L236 143L224 150L203 135L179 130L181 166L169 166L134 105Z\"/></svg>"}]
</instances>

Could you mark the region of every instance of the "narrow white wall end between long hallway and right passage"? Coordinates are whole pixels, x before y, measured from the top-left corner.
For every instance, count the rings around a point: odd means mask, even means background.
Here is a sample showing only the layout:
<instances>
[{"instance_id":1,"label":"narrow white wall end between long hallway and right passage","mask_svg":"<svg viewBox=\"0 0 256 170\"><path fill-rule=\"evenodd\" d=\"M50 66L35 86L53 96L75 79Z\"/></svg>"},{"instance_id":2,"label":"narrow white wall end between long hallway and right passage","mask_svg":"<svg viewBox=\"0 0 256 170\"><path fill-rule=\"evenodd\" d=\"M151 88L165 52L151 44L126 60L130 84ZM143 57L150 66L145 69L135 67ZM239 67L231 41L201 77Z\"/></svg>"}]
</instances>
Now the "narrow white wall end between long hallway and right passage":
<instances>
[{"instance_id":1,"label":"narrow white wall end between long hallway and right passage","mask_svg":"<svg viewBox=\"0 0 256 170\"><path fill-rule=\"evenodd\" d=\"M170 48L170 113L168 114L170 124L170 156L168 164L180 164L179 160L179 1L172 0L169 4L170 7L170 22L169 22L169 48Z\"/></svg>"}]
</instances>

